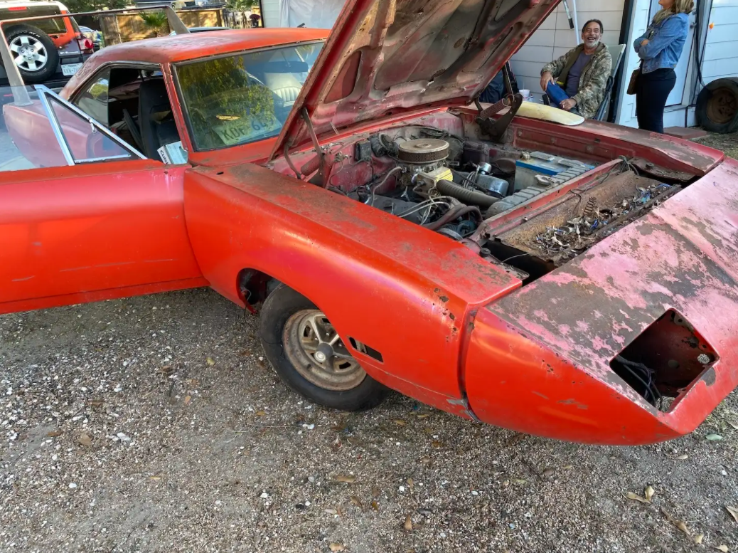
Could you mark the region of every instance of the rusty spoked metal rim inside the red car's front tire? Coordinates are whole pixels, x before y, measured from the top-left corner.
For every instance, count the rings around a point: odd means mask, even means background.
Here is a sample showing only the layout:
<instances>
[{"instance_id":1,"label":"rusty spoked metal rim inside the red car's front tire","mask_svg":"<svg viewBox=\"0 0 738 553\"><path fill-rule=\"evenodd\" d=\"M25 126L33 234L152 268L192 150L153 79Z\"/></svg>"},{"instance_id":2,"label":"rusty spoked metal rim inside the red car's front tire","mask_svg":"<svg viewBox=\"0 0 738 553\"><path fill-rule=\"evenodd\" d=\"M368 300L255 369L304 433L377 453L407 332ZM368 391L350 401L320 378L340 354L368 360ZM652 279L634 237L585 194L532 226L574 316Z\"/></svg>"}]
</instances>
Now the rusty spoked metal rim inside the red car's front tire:
<instances>
[{"instance_id":1,"label":"rusty spoked metal rim inside the red car's front tire","mask_svg":"<svg viewBox=\"0 0 738 553\"><path fill-rule=\"evenodd\" d=\"M320 388L351 390L367 376L328 317L317 309L303 309L289 317L283 343L287 358L297 372Z\"/></svg>"}]
</instances>

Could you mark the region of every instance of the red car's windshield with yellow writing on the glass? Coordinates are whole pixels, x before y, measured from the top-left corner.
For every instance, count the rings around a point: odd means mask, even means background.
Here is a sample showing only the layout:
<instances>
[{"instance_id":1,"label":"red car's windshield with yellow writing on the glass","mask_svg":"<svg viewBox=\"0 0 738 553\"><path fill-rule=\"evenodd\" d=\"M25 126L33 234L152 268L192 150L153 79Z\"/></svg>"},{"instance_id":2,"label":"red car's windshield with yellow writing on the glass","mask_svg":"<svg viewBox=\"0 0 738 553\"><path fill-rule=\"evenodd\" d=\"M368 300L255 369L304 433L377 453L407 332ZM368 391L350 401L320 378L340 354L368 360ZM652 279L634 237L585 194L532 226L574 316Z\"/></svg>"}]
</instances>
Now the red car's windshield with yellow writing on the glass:
<instances>
[{"instance_id":1,"label":"red car's windshield with yellow writing on the glass","mask_svg":"<svg viewBox=\"0 0 738 553\"><path fill-rule=\"evenodd\" d=\"M276 137L322 47L300 44L177 66L196 150Z\"/></svg>"}]
</instances>

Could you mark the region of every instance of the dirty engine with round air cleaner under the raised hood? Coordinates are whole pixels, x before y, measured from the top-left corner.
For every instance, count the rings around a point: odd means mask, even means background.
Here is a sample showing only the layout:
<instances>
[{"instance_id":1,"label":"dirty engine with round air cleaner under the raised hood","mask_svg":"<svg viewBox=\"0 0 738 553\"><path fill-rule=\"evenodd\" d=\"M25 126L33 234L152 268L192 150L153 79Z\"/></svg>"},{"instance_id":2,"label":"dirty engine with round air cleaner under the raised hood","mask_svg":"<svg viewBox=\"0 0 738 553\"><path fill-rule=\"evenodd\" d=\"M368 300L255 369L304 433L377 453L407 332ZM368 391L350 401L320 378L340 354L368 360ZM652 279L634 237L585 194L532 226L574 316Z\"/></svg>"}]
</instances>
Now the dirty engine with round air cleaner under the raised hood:
<instances>
[{"instance_id":1,"label":"dirty engine with round air cleaner under the raised hood","mask_svg":"<svg viewBox=\"0 0 738 553\"><path fill-rule=\"evenodd\" d=\"M475 233L483 219L591 168L539 152L480 154L482 143L434 128L404 134L376 134L356 144L356 159L389 157L393 167L348 196L456 241Z\"/></svg>"}]
</instances>

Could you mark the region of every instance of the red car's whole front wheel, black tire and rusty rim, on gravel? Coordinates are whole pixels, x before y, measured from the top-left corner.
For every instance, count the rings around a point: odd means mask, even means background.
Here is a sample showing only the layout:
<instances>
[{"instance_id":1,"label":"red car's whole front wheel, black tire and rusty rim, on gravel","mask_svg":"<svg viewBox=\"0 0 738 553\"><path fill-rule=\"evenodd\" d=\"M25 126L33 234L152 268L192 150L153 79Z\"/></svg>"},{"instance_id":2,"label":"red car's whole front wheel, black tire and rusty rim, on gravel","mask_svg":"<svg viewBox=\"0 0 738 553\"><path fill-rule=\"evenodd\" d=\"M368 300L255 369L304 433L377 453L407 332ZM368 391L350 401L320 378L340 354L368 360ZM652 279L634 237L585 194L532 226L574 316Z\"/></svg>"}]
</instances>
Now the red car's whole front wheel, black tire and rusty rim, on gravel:
<instances>
[{"instance_id":1,"label":"red car's whole front wheel, black tire and rusty rim, on gravel","mask_svg":"<svg viewBox=\"0 0 738 553\"><path fill-rule=\"evenodd\" d=\"M365 411L387 396L389 390L366 374L328 317L288 286L278 286L264 301L259 336L279 377L312 402Z\"/></svg>"}]
</instances>

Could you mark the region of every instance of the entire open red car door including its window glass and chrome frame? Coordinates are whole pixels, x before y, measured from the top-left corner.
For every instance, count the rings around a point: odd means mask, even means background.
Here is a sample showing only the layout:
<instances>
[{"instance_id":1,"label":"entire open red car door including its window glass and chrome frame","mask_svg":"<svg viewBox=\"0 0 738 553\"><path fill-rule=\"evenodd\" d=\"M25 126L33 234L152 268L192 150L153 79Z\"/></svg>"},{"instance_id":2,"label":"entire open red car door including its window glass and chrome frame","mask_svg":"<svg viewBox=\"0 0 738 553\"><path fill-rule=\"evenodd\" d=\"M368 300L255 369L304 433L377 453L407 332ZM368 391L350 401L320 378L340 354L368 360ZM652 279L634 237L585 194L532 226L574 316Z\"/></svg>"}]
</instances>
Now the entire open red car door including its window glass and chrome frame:
<instances>
[{"instance_id":1,"label":"entire open red car door including its window glass and chrome frame","mask_svg":"<svg viewBox=\"0 0 738 553\"><path fill-rule=\"evenodd\" d=\"M188 165L146 159L35 89L4 106L0 313L207 284L184 223Z\"/></svg>"}]
</instances>

